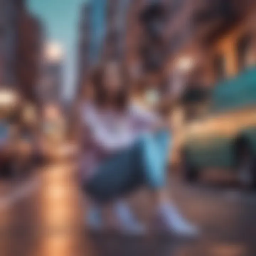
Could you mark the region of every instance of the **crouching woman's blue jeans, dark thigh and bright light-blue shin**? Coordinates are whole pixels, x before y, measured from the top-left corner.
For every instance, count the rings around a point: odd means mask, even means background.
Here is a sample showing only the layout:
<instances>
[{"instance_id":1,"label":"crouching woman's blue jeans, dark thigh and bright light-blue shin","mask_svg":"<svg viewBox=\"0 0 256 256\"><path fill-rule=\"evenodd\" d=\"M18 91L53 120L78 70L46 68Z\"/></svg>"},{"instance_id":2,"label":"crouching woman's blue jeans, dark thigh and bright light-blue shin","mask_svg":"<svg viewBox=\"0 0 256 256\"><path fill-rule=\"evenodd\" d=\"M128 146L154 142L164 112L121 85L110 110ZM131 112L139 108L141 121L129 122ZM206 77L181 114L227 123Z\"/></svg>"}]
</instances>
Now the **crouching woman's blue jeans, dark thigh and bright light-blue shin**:
<instances>
[{"instance_id":1,"label":"crouching woman's blue jeans, dark thigh and bright light-blue shin","mask_svg":"<svg viewBox=\"0 0 256 256\"><path fill-rule=\"evenodd\" d=\"M84 189L104 203L125 196L146 185L157 190L165 186L169 132L145 133L130 148L104 161Z\"/></svg>"}]
</instances>

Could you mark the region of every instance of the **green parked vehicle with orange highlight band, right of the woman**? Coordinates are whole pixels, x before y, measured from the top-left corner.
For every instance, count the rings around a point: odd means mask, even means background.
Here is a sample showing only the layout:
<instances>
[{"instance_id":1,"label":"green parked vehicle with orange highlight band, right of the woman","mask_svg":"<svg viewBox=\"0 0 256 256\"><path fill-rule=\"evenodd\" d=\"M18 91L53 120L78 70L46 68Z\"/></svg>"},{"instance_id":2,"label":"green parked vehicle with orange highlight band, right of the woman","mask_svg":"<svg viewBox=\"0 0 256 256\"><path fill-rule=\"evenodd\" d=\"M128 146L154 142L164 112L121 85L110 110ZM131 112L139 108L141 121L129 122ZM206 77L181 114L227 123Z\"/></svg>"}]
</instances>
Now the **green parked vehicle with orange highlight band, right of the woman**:
<instances>
[{"instance_id":1,"label":"green parked vehicle with orange highlight band, right of the woman","mask_svg":"<svg viewBox=\"0 0 256 256\"><path fill-rule=\"evenodd\" d=\"M182 162L187 180L208 169L230 169L256 187L256 68L217 84L205 117L187 124Z\"/></svg>"}]
</instances>

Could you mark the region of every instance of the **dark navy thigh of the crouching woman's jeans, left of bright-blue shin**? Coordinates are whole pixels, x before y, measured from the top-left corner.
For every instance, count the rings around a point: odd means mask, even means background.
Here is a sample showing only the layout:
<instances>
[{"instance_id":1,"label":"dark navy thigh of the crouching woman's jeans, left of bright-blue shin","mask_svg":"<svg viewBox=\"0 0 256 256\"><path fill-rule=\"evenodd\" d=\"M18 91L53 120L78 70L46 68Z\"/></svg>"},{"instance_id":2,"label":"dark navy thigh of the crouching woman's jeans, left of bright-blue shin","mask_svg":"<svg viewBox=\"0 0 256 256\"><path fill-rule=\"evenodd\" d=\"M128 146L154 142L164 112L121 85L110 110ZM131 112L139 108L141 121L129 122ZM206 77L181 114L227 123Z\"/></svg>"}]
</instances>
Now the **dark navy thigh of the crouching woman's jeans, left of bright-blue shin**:
<instances>
[{"instance_id":1,"label":"dark navy thigh of the crouching woman's jeans, left of bright-blue shin","mask_svg":"<svg viewBox=\"0 0 256 256\"><path fill-rule=\"evenodd\" d=\"M137 145L107 159L94 177L85 184L85 191L101 204L111 203L143 183L137 172Z\"/></svg>"}]
</instances>

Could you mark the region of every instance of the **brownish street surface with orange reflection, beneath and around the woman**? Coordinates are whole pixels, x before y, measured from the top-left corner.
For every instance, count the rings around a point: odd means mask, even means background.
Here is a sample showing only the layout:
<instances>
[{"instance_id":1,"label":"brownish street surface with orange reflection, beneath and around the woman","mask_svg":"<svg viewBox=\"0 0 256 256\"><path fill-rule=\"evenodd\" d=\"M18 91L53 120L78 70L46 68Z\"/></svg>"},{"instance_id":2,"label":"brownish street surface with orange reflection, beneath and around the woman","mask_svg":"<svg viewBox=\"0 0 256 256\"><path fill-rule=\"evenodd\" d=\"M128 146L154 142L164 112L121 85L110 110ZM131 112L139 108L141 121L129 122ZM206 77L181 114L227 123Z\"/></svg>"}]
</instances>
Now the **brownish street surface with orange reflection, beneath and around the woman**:
<instances>
[{"instance_id":1,"label":"brownish street surface with orange reflection, beneath and around the woman","mask_svg":"<svg viewBox=\"0 0 256 256\"><path fill-rule=\"evenodd\" d=\"M253 256L256 194L242 192L235 185L219 184L203 181L189 186L178 178L170 182L172 198L182 213L201 227L201 238L181 241L154 236L89 235L82 225L82 196L75 166L53 163L35 170L19 185L1 181L1 255ZM145 221L150 215L149 202L145 191L131 199Z\"/></svg>"}]
</instances>

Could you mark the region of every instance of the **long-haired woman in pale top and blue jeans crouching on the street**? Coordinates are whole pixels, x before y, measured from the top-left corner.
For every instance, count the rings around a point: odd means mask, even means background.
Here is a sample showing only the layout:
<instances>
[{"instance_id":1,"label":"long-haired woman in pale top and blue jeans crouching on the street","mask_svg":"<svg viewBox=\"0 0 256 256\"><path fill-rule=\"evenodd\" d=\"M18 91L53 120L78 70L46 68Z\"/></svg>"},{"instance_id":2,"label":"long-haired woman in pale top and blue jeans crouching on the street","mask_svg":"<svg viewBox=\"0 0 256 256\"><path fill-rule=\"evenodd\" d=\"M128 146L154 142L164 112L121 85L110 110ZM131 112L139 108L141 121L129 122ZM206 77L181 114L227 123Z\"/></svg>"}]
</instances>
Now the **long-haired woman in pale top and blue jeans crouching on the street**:
<instances>
[{"instance_id":1,"label":"long-haired woman in pale top and blue jeans crouching on the street","mask_svg":"<svg viewBox=\"0 0 256 256\"><path fill-rule=\"evenodd\" d=\"M125 204L116 212L109 209L115 209L113 202L119 198L146 185L155 200L158 228L194 234L196 228L180 216L167 197L167 127L156 114L129 105L127 79L121 70L114 62L98 69L91 80L94 102L87 102L82 108L86 135L84 190L108 212L105 216L115 214L114 218L129 222L134 218L123 218L132 215ZM113 224L110 218L106 219Z\"/></svg>"}]
</instances>

